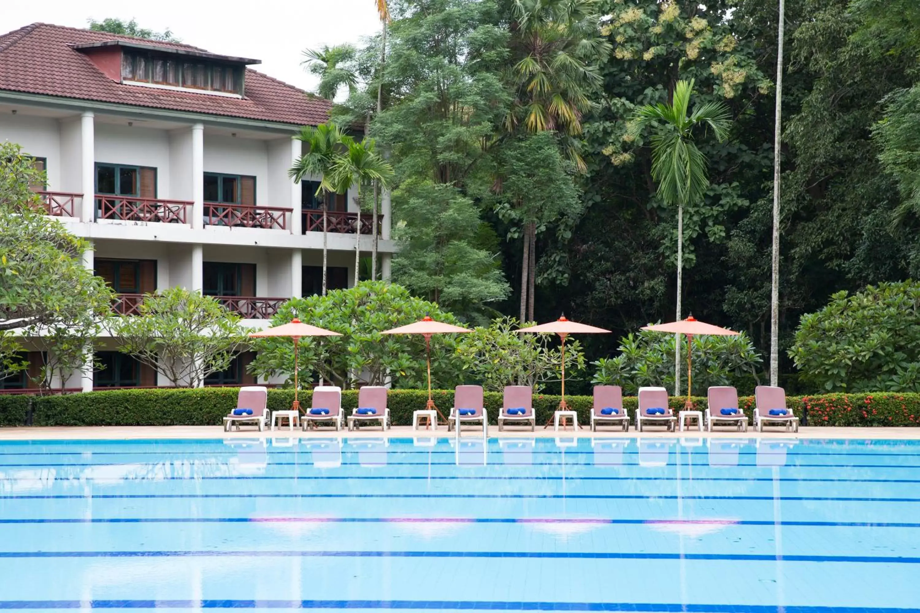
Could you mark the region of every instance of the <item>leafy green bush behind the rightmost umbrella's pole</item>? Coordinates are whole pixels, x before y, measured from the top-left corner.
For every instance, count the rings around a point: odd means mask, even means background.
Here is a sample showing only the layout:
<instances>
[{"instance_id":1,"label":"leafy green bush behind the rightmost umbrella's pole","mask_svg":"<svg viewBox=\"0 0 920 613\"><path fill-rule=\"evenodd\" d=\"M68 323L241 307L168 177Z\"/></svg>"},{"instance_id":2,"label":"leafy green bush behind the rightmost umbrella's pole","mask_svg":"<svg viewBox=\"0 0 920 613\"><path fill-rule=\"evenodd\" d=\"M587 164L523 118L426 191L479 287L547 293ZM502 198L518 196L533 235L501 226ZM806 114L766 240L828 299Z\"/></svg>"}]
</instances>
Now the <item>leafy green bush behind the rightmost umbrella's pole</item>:
<instances>
[{"instance_id":1,"label":"leafy green bush behind the rightmost umbrella's pole","mask_svg":"<svg viewBox=\"0 0 920 613\"><path fill-rule=\"evenodd\" d=\"M592 383L620 385L627 393L643 386L673 388L674 335L643 330L620 339L620 355L601 358ZM681 356L686 356L686 337L681 335ZM711 385L751 388L759 384L757 368L762 359L748 335L695 336L693 339L693 392L705 393ZM686 367L681 369L686 389Z\"/></svg>"}]
</instances>

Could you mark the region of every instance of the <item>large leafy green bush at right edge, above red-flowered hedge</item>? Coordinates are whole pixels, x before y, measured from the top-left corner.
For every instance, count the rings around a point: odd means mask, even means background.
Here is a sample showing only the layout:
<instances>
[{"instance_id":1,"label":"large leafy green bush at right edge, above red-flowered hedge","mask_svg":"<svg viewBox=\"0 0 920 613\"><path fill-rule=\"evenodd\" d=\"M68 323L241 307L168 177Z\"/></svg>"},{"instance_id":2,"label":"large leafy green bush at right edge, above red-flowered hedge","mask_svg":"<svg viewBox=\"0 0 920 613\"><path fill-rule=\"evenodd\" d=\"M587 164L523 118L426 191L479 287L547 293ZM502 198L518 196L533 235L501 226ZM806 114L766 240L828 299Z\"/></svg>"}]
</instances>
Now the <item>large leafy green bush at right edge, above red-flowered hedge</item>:
<instances>
[{"instance_id":1,"label":"large leafy green bush at right edge, above red-flowered hedge","mask_svg":"<svg viewBox=\"0 0 920 613\"><path fill-rule=\"evenodd\" d=\"M802 316L789 357L828 392L920 392L920 283L835 293Z\"/></svg>"}]
</instances>

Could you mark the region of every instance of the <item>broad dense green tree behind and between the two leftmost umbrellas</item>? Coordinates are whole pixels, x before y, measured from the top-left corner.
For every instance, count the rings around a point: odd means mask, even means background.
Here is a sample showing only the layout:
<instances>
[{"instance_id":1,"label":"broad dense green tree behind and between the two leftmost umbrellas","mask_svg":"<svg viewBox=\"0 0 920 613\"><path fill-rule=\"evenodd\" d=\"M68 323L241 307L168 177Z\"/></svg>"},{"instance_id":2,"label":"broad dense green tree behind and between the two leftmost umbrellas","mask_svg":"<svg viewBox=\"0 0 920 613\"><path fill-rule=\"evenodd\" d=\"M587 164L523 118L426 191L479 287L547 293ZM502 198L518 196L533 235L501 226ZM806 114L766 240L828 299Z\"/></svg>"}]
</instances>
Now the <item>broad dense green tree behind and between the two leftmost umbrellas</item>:
<instances>
[{"instance_id":1,"label":"broad dense green tree behind and between the two leftmost umbrellas","mask_svg":"<svg viewBox=\"0 0 920 613\"><path fill-rule=\"evenodd\" d=\"M293 298L279 308L271 324L299 317L342 336L302 338L298 364L301 381L317 378L342 388L385 385L417 388L425 382L425 341L414 335L381 335L382 330L431 315L457 324L437 304L415 298L408 290L385 281L362 281L353 288L333 289L326 296ZM431 377L438 385L459 382L454 335L431 339ZM285 375L293 383L293 343L288 338L260 338L257 357L249 369L263 377Z\"/></svg>"}]
</instances>

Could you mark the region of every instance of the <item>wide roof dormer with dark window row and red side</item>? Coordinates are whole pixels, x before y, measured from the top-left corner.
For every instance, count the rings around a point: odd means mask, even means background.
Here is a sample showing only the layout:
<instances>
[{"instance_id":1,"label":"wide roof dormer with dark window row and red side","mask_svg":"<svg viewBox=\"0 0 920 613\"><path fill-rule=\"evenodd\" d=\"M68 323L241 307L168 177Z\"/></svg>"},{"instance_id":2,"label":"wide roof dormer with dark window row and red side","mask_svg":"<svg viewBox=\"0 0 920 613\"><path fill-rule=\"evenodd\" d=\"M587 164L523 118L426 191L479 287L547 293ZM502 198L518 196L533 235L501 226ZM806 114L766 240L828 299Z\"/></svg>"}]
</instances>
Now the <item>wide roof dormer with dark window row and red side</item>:
<instances>
[{"instance_id":1,"label":"wide roof dormer with dark window row and red side","mask_svg":"<svg viewBox=\"0 0 920 613\"><path fill-rule=\"evenodd\" d=\"M122 84L212 96L242 97L247 65L261 63L149 40L103 40L74 49Z\"/></svg>"}]
</instances>

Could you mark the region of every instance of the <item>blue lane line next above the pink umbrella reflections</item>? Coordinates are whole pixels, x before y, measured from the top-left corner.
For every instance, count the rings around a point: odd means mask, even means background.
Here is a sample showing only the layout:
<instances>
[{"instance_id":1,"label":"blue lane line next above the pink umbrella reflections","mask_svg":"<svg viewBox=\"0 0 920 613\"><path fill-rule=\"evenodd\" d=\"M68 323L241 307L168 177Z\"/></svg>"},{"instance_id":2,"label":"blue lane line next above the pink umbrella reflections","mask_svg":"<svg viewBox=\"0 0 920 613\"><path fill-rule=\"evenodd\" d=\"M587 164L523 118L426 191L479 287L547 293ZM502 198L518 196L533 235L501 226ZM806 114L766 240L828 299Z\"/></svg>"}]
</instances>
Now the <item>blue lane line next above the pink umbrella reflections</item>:
<instances>
[{"instance_id":1,"label":"blue lane line next above the pink umbrella reflections","mask_svg":"<svg viewBox=\"0 0 920 613\"><path fill-rule=\"evenodd\" d=\"M423 499L501 499L501 500L776 500L849 503L920 503L920 498L846 496L732 496L705 494L17 494L0 495L4 500L152 500L202 498L423 498ZM0 519L2 521L2 519Z\"/></svg>"}]
</instances>

